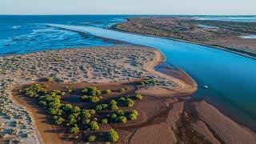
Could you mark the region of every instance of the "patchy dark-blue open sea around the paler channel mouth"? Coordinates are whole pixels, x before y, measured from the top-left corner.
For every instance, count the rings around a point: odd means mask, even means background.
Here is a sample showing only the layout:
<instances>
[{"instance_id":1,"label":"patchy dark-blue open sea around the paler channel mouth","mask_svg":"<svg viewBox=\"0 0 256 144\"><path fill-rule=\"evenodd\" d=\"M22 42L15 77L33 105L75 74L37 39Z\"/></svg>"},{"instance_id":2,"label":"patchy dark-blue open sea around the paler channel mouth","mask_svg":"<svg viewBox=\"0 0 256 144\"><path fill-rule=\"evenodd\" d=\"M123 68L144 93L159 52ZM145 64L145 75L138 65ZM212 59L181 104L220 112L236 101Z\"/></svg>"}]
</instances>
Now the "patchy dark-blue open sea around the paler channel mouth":
<instances>
[{"instance_id":1,"label":"patchy dark-blue open sea around the paler channel mouth","mask_svg":"<svg viewBox=\"0 0 256 144\"><path fill-rule=\"evenodd\" d=\"M95 38L94 35L79 34L47 26L58 23L78 26L109 27L123 22L130 16L1 16L0 15L0 56L26 54L42 50L57 50L82 46L113 46L112 41Z\"/></svg>"}]
</instances>

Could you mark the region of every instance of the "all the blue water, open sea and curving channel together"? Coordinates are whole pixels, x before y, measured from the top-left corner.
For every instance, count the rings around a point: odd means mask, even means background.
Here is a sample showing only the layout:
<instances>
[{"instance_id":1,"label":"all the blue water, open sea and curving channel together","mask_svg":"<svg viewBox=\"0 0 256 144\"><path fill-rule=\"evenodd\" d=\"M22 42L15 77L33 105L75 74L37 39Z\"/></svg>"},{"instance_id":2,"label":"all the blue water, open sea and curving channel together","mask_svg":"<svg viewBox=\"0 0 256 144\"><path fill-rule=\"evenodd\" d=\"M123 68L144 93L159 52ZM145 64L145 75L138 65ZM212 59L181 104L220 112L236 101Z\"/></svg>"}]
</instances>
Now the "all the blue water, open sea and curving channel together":
<instances>
[{"instance_id":1,"label":"all the blue water, open sea and curving channel together","mask_svg":"<svg viewBox=\"0 0 256 144\"><path fill-rule=\"evenodd\" d=\"M206 99L226 115L256 130L254 59L207 46L106 29L128 17L131 16L0 16L0 54L125 42L154 47L166 55L166 65L185 70L199 86L209 86L207 90L199 88L194 98Z\"/></svg>"}]
</instances>

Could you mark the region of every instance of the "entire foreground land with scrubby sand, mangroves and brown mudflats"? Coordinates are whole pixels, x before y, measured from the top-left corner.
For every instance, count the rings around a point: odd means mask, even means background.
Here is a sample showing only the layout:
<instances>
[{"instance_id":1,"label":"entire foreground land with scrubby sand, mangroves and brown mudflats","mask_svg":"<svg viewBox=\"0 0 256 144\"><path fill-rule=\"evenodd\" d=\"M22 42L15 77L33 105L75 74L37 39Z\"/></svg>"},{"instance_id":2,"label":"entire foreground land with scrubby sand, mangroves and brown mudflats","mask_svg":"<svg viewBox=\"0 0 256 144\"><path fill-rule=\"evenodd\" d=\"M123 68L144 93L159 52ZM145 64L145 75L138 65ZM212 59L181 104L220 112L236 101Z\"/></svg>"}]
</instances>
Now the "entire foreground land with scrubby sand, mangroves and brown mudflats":
<instances>
[{"instance_id":1,"label":"entire foreground land with scrubby sand, mangroves and brown mudflats","mask_svg":"<svg viewBox=\"0 0 256 144\"><path fill-rule=\"evenodd\" d=\"M177 70L166 75L155 71L154 66L164 61L160 51L144 46L90 47L2 57L0 141L107 142L105 137L115 130L119 137L111 140L119 143L256 142L250 129L207 102L192 101L190 94L198 87L185 72ZM88 90L96 90L97 94L87 94ZM60 117L52 118L54 112L49 112L47 106L51 104L46 104L46 97L58 98L54 102L64 111L63 106L75 108L77 124L70 126L69 119L65 119L70 116L65 117L64 112L65 120L54 121ZM106 110L98 110L101 106L107 106ZM99 123L97 130L85 129L79 123L84 122L82 112L86 110L96 111L94 117L84 120ZM136 117L128 117L134 110L138 112L134 112Z\"/></svg>"}]
</instances>

